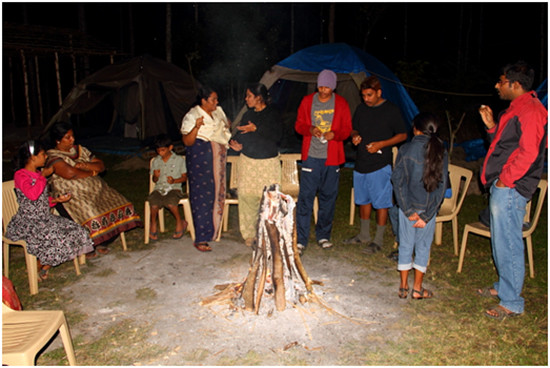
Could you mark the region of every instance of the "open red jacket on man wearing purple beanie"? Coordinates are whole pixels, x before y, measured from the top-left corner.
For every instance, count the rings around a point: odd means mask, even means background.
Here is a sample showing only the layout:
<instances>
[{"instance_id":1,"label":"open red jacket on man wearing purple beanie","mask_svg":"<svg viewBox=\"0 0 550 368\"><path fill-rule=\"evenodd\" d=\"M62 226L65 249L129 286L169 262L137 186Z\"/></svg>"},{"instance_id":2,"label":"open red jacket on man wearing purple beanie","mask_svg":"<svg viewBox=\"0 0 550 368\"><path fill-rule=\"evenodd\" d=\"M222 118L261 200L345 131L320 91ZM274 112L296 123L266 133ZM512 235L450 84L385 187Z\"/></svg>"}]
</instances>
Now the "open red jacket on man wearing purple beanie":
<instances>
[{"instance_id":1,"label":"open red jacket on man wearing purple beanie","mask_svg":"<svg viewBox=\"0 0 550 368\"><path fill-rule=\"evenodd\" d=\"M295 129L304 139L302 141L302 161L307 159L309 145L311 143L311 105L313 96L307 95L302 99L298 108ZM330 131L334 133L334 139L328 141L326 166L341 165L346 162L344 154L344 141L351 133L351 112L345 98L334 94L334 116Z\"/></svg>"}]
</instances>

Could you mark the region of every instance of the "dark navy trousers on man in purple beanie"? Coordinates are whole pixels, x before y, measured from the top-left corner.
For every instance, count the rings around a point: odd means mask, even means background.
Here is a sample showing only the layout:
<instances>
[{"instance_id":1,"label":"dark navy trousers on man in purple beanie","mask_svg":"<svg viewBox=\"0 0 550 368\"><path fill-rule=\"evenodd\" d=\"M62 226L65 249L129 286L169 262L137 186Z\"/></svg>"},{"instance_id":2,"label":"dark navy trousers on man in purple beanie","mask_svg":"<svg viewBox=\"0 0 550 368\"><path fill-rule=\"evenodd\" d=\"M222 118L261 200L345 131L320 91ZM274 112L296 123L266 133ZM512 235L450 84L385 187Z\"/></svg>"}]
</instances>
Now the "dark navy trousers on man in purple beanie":
<instances>
[{"instance_id":1,"label":"dark navy trousers on man in purple beanie","mask_svg":"<svg viewBox=\"0 0 550 368\"><path fill-rule=\"evenodd\" d=\"M340 166L325 166L325 159L308 157L302 163L302 175L300 177L300 193L296 207L296 226L298 243L307 246L313 201L319 196L319 212L317 213L317 225L315 235L317 241L330 240L332 233L332 220L338 196L338 184L340 181Z\"/></svg>"}]
</instances>

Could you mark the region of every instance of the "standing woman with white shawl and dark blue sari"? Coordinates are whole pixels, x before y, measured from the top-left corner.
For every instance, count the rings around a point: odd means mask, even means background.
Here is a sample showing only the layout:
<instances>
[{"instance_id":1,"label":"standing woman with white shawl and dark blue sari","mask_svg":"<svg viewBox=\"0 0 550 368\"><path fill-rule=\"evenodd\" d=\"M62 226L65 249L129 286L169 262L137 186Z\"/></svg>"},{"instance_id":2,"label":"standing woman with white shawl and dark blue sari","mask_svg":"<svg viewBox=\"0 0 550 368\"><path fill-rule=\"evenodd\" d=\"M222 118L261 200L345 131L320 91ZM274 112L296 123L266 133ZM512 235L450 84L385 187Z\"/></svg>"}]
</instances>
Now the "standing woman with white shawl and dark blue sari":
<instances>
[{"instance_id":1,"label":"standing woman with white shawl and dark blue sari","mask_svg":"<svg viewBox=\"0 0 550 368\"><path fill-rule=\"evenodd\" d=\"M199 90L197 105L183 117L182 140L187 146L189 200L195 226L197 250L212 250L222 223L225 202L225 165L230 123L218 106L218 94L207 87Z\"/></svg>"}]
</instances>

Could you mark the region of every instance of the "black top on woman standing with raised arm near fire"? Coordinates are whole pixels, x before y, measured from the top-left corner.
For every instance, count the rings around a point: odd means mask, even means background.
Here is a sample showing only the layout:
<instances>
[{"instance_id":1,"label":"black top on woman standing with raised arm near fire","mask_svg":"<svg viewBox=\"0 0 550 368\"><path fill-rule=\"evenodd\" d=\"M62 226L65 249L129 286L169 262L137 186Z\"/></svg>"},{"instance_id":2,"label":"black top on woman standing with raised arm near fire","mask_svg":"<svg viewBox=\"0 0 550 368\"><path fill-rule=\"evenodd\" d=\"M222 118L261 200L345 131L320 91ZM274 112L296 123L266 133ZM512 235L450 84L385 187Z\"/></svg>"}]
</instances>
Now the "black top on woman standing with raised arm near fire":
<instances>
[{"instance_id":1,"label":"black top on woman standing with raised arm near fire","mask_svg":"<svg viewBox=\"0 0 550 368\"><path fill-rule=\"evenodd\" d=\"M243 145L241 153L256 159L277 157L283 137L283 122L279 112L271 106L258 112L250 109L243 115L239 126L247 125L249 121L256 125L256 131L237 132L234 138Z\"/></svg>"}]
</instances>

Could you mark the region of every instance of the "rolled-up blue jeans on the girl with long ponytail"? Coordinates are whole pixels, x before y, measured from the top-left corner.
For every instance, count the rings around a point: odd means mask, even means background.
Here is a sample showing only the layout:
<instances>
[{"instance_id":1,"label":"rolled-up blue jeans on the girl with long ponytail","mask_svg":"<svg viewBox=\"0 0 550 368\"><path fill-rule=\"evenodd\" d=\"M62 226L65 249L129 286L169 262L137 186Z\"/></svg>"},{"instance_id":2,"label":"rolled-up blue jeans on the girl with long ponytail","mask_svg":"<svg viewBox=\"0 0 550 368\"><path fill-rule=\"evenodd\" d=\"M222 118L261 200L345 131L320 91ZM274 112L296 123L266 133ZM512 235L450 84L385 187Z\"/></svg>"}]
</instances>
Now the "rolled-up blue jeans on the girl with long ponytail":
<instances>
[{"instance_id":1,"label":"rolled-up blue jeans on the girl with long ponytail","mask_svg":"<svg viewBox=\"0 0 550 368\"><path fill-rule=\"evenodd\" d=\"M435 233L435 216L423 228L413 227L413 224L414 221L410 221L399 209L399 259L397 270L408 271L414 268L426 273Z\"/></svg>"}]
</instances>

